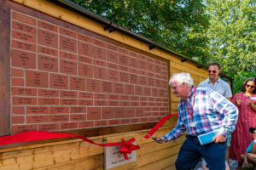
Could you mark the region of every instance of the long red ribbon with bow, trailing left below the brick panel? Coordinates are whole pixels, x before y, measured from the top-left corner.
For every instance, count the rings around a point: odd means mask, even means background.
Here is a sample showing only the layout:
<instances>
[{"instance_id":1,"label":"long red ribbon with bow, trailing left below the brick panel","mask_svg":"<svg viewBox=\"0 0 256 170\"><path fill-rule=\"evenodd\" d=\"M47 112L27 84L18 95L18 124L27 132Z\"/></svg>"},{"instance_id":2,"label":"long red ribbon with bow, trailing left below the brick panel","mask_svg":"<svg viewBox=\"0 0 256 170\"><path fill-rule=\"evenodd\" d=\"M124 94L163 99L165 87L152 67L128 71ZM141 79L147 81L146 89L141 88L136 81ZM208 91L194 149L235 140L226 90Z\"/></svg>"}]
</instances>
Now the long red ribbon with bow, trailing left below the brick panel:
<instances>
[{"instance_id":1,"label":"long red ribbon with bow, trailing left below the brick panel","mask_svg":"<svg viewBox=\"0 0 256 170\"><path fill-rule=\"evenodd\" d=\"M90 144L96 144L100 146L121 146L119 152L124 155L125 160L128 160L127 154L131 154L132 150L138 150L140 147L138 145L132 144L135 141L134 138L129 139L125 142L122 139L122 143L108 143L108 144L97 144L94 141L85 138L84 136L76 134L67 134L67 133L55 133L55 132L44 132L44 131L28 131L24 133L18 133L10 136L0 137L0 145L3 144L15 144L20 142L29 142L34 140L43 140L43 139L58 139L58 138L67 138L75 137L82 139Z\"/></svg>"}]
</instances>

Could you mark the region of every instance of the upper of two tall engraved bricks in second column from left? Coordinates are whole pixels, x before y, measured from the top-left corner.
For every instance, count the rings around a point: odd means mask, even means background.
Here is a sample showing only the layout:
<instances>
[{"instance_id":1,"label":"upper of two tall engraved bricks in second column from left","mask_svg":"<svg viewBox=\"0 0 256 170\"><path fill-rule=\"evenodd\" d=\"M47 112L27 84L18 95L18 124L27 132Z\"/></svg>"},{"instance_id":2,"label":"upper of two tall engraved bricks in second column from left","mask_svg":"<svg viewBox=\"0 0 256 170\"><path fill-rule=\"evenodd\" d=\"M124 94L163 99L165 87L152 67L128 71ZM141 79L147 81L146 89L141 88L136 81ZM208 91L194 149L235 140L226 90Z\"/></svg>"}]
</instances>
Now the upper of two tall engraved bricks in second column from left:
<instances>
[{"instance_id":1,"label":"upper of two tall engraved bricks in second column from left","mask_svg":"<svg viewBox=\"0 0 256 170\"><path fill-rule=\"evenodd\" d=\"M38 29L38 44L58 48L58 35L50 31Z\"/></svg>"}]
</instances>

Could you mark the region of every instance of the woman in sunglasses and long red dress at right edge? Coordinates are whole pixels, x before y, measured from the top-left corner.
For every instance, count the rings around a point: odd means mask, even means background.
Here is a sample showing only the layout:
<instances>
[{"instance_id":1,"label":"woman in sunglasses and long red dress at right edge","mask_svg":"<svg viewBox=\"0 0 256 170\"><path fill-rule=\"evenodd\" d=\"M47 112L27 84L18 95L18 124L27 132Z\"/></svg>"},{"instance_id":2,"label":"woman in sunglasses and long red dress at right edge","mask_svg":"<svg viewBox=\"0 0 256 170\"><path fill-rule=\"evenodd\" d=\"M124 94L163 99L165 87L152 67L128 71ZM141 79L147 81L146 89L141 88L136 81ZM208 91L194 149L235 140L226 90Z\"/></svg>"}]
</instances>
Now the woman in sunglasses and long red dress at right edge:
<instances>
[{"instance_id":1,"label":"woman in sunglasses and long red dress at right edge","mask_svg":"<svg viewBox=\"0 0 256 170\"><path fill-rule=\"evenodd\" d=\"M241 155L244 154L247 146L253 140L253 135L248 133L249 127L256 126L256 78L248 78L243 82L241 92L232 99L239 110L236 130L232 133L230 158L238 161L236 170L240 170Z\"/></svg>"}]
</instances>

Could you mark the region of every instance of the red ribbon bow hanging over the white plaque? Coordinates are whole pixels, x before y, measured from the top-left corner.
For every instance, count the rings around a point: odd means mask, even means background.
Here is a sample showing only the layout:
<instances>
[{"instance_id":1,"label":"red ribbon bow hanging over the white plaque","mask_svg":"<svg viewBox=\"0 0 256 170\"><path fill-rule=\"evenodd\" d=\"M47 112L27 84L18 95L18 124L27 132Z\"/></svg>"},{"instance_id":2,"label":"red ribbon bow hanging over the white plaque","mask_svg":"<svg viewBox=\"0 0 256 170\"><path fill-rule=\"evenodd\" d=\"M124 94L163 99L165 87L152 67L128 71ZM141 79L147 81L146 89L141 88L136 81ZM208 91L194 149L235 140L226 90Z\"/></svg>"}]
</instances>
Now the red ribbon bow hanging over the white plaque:
<instances>
[{"instance_id":1,"label":"red ribbon bow hanging over the white plaque","mask_svg":"<svg viewBox=\"0 0 256 170\"><path fill-rule=\"evenodd\" d=\"M140 146L132 144L132 142L134 142L134 141L135 141L134 138L129 139L126 142L125 142L124 139L122 139L122 145L121 145L121 148L120 148L119 152L121 154L124 154L125 160L129 160L127 154L128 153L131 154L132 150L140 149Z\"/></svg>"}]
</instances>

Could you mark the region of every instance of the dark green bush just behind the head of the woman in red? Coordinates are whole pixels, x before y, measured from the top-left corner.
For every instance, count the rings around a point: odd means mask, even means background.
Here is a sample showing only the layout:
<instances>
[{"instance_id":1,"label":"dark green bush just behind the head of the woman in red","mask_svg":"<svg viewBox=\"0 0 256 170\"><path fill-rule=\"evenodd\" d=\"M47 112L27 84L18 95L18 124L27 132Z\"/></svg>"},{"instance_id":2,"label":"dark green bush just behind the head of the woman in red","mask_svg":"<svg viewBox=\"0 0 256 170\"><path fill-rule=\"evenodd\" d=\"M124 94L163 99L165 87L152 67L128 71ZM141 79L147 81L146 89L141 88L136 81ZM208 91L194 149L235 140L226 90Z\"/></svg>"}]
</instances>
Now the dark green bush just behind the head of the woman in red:
<instances>
[{"instance_id":1,"label":"dark green bush just behind the head of the woman in red","mask_svg":"<svg viewBox=\"0 0 256 170\"><path fill-rule=\"evenodd\" d=\"M238 73L233 81L233 94L241 92L242 83L250 77L256 77L256 72L241 71Z\"/></svg>"}]
</instances>

